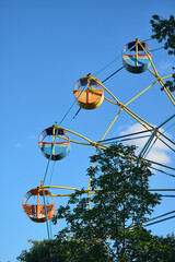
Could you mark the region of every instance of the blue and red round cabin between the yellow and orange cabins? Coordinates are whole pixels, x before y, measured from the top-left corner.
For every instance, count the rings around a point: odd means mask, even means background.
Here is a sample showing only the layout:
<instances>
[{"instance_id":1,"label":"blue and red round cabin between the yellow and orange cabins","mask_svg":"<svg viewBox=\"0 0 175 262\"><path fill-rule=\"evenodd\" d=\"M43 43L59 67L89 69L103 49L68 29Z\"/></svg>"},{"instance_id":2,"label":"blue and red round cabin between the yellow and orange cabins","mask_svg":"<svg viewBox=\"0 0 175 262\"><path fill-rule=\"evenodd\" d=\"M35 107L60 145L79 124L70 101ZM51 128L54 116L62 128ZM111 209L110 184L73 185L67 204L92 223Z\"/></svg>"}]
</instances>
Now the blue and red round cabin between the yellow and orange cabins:
<instances>
[{"instance_id":1,"label":"blue and red round cabin between the yellow and orange cabins","mask_svg":"<svg viewBox=\"0 0 175 262\"><path fill-rule=\"evenodd\" d=\"M67 132L56 126L45 129L39 134L38 145L44 156L51 160L60 160L70 152L70 141Z\"/></svg>"}]
</instances>

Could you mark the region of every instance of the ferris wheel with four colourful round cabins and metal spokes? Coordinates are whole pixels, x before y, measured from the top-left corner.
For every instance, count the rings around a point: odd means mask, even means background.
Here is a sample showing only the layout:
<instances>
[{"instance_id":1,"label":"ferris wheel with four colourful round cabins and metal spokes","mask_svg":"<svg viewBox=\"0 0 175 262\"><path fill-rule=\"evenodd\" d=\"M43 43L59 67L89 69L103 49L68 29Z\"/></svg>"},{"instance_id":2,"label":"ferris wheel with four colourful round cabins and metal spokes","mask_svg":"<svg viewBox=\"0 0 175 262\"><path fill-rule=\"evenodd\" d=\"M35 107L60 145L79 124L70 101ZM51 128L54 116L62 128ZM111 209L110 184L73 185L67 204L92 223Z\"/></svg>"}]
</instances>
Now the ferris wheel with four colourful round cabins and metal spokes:
<instances>
[{"instance_id":1,"label":"ferris wheel with four colourful round cabins and metal spokes","mask_svg":"<svg viewBox=\"0 0 175 262\"><path fill-rule=\"evenodd\" d=\"M164 119L162 123L160 123L158 127L152 126L151 123L147 122L143 118L141 118L138 114L129 109L129 104L131 104L135 99L140 97L144 92L147 92L149 88L151 88L155 83L160 83L161 87L164 90L166 96L168 97L168 102L172 104L172 106L175 106L175 97L173 96L172 92L165 86L164 80L171 78L172 75L167 75L164 78L161 78L155 69L155 66L152 61L152 50L150 46L145 41L140 41L138 38L136 40L132 40L125 45L121 51L121 56L117 57L117 59L121 58L122 67L119 68L115 73L109 75L104 81L100 81L96 75L88 74L81 79L79 79L75 84L73 85L73 96L74 102L71 105L71 107L68 109L67 114L63 116L62 120L59 124L55 123L51 127L46 128L38 138L38 147L42 152L42 154L47 159L47 168L44 176L43 181L40 184L34 189L31 189L23 198L22 206L25 212L25 214L35 223L48 223L49 219L54 216L56 212L56 204L55 204L55 196L51 194L49 190L52 188L55 189L61 189L61 190L72 190L72 193L67 194L57 194L58 196L65 196L65 195L71 195L74 191L79 191L80 189L71 188L69 186L66 187L54 187L54 186L45 186L46 177L48 175L48 168L50 165L50 162L57 163L61 160L62 158L67 157L68 154L71 154L71 144L74 143L78 146L79 145L85 145L85 146L93 146L95 150L95 154L97 154L98 150L106 150L108 145L106 145L106 142L114 143L116 141L119 141L120 139L129 140L132 138L132 133L128 133L122 136L117 138L110 138L106 140L106 135L109 132L109 130L113 128L113 124L118 119L119 115L125 111L129 117L136 120L136 122L140 123L144 131L137 132L136 134L149 134L149 138L147 140L147 143L142 147L140 154L138 155L138 163L141 159L144 159L145 155L154 146L154 143L156 140L161 140L162 143L164 143L168 148L171 148L173 152L175 150L173 146L175 145L175 142L172 141L168 136L166 136L161 128L172 121L174 119L175 114L173 116L170 116L168 119ZM116 61L115 59L114 61ZM106 68L106 67L105 67ZM104 69L105 69L104 68ZM104 85L104 83L112 78L114 74L118 73L121 69L127 70L129 73L133 74L140 74L145 71L149 71L150 74L154 76L154 82L147 86L142 92L138 93L135 97L132 97L127 103L122 104L119 99L116 98L116 96ZM109 97L109 98L108 98ZM97 141L92 141L90 138L84 136L83 134L79 134L75 131L72 131L70 129L62 127L62 122L67 115L70 112L71 108L78 104L79 110L73 116L72 120L78 116L79 111L81 109L85 110L93 110L96 109L100 106L103 106L103 102L106 100L107 103L110 103L114 105L115 110L118 109L117 115L110 122L107 130L105 130L102 138L98 138ZM70 126L70 124L69 124ZM77 139L72 139L75 136ZM81 141L80 141L81 139ZM82 142L83 141L83 142ZM163 167L161 163L153 163L150 160L150 164L154 164L155 166ZM93 164L94 166L94 164ZM175 170L175 167L165 166L166 168L170 168L171 170ZM154 167L154 169L156 169ZM158 169L159 171L165 172L164 170ZM168 172L166 172L170 175ZM174 176L174 175L172 175ZM48 190L49 189L49 190ZM89 183L86 186L85 190L86 194L92 193L91 190L91 178L89 180ZM90 201L90 200L89 200ZM48 228L48 227L47 227ZM49 237L49 231L48 231Z\"/></svg>"}]
</instances>

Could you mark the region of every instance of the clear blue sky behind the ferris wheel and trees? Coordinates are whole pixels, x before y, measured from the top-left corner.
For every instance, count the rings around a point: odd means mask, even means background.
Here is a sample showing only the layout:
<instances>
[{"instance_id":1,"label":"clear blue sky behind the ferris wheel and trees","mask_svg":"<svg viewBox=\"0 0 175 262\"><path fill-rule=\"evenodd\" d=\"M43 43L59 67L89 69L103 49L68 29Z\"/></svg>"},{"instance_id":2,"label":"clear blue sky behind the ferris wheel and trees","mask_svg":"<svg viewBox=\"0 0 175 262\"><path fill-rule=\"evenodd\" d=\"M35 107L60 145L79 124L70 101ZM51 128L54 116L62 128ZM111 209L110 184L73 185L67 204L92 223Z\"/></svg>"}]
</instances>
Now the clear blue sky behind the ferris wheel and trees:
<instances>
[{"instance_id":1,"label":"clear blue sky behind the ferris wheel and trees","mask_svg":"<svg viewBox=\"0 0 175 262\"><path fill-rule=\"evenodd\" d=\"M1 262L15 261L23 249L31 247L27 239L47 238L46 224L33 223L22 210L24 194L39 186L47 166L37 145L39 133L55 121L61 121L74 102L72 88L78 79L88 73L94 75L119 57L122 47L136 37L149 39L151 16L159 14L167 19L174 10L174 0L0 1ZM155 40L149 45L152 49L161 46ZM161 76L172 73L174 57L165 50L154 51L153 62ZM119 58L97 78L103 81L121 66ZM106 82L106 87L125 104L153 82L149 72L136 75L122 69ZM78 108L78 105L73 107L62 127ZM154 126L174 114L159 84L129 108ZM95 110L81 110L69 128L98 141L118 110L104 102ZM119 135L136 123L121 114L108 138ZM171 139L174 131L168 130ZM94 147L72 144L68 157L56 164L51 184L86 187L85 170L89 156L94 152ZM154 154L160 152L160 157L173 165L172 153L158 146ZM156 174L152 187L174 188L174 180ZM59 198L56 204L59 206L66 201ZM173 206L173 200L164 200L155 214L172 211ZM52 234L61 226L61 223L52 226ZM165 236L174 231L174 219L150 229Z\"/></svg>"}]
</instances>

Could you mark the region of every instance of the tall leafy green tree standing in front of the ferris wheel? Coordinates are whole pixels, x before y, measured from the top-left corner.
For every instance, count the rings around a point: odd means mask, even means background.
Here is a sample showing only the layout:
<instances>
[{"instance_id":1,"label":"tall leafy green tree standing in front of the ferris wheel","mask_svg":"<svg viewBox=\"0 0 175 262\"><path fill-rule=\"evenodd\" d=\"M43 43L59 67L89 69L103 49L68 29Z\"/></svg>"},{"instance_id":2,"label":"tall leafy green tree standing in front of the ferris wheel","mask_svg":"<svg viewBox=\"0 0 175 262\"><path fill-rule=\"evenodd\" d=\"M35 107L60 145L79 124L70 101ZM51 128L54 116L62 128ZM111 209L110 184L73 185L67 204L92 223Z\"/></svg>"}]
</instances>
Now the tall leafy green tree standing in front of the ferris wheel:
<instances>
[{"instance_id":1,"label":"tall leafy green tree standing in front of the ferris wheel","mask_svg":"<svg viewBox=\"0 0 175 262\"><path fill-rule=\"evenodd\" d=\"M58 237L72 236L90 246L103 242L108 261L141 261L138 259L140 250L143 252L141 239L147 234L151 236L141 225L160 203L160 195L149 192L152 174L147 162L137 163L135 150L115 144L91 157L95 167L90 167L88 175L95 193L86 196L82 189L70 198L67 206L58 209L52 222L57 224L61 218L67 222ZM140 249L133 249L136 240Z\"/></svg>"}]
</instances>

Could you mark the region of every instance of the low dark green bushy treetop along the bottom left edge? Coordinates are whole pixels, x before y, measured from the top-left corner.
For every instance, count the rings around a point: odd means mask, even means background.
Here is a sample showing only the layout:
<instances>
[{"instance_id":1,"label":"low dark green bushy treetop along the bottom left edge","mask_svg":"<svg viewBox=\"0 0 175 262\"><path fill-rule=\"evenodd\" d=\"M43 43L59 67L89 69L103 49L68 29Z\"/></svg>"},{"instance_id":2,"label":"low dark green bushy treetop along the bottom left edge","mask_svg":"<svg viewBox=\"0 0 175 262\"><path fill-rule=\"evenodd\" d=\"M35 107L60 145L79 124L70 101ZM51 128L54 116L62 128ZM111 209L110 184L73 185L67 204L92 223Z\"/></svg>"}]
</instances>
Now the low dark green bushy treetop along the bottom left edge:
<instances>
[{"instance_id":1,"label":"low dark green bushy treetop along the bottom left edge","mask_svg":"<svg viewBox=\"0 0 175 262\"><path fill-rule=\"evenodd\" d=\"M16 259L20 262L104 262L108 261L107 248L102 242L85 245L72 238L33 241L32 248L23 250Z\"/></svg>"}]
</instances>

